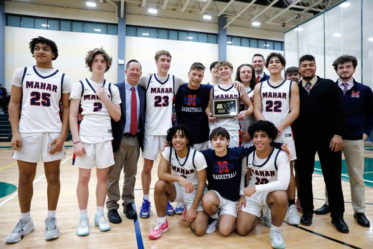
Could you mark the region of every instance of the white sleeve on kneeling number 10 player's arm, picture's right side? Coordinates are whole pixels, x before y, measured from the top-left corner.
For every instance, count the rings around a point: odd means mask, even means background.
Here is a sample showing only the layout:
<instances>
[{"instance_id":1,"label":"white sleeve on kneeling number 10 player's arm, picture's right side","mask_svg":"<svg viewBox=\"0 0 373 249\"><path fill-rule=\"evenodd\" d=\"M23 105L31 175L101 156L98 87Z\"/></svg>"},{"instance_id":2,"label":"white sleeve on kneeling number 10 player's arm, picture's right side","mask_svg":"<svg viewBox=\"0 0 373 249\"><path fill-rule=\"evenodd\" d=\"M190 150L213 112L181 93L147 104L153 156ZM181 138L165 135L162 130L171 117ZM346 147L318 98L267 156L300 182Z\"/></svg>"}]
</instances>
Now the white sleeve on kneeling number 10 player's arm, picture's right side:
<instances>
[{"instance_id":1,"label":"white sleeve on kneeling number 10 player's arm, picture's right side","mask_svg":"<svg viewBox=\"0 0 373 249\"><path fill-rule=\"evenodd\" d=\"M290 167L286 152L280 151L276 164L278 169L277 180L266 184L255 185L257 193L273 192L278 190L286 191L290 181Z\"/></svg>"}]
</instances>

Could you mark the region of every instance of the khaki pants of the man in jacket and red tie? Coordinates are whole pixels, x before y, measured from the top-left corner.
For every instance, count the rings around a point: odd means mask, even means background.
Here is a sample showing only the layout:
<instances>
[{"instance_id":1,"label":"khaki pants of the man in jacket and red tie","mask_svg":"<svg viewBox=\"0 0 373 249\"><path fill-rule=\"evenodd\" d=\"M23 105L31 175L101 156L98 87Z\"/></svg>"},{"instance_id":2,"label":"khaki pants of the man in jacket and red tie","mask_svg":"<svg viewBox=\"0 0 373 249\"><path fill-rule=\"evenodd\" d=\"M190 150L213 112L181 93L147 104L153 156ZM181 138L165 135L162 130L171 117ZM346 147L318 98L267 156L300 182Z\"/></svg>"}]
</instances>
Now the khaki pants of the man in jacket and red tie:
<instances>
[{"instance_id":1,"label":"khaki pants of the man in jacket and red tie","mask_svg":"<svg viewBox=\"0 0 373 249\"><path fill-rule=\"evenodd\" d=\"M135 200L135 182L137 161L140 156L140 146L136 136L122 137L119 148L114 152L115 164L107 171L107 210L118 209L120 200L119 178L123 169L124 183L122 189L122 206Z\"/></svg>"}]
</instances>

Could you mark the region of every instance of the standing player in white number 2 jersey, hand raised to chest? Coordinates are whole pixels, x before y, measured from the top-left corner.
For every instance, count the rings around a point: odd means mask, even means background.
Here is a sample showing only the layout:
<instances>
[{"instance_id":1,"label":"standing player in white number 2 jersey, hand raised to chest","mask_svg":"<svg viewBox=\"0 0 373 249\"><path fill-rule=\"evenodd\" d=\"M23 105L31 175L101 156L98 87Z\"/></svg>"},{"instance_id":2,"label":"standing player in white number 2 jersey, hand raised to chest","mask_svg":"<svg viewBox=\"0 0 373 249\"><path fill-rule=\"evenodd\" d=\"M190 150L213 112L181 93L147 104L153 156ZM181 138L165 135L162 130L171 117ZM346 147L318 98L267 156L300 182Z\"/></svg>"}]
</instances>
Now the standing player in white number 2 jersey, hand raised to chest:
<instances>
[{"instance_id":1,"label":"standing player in white number 2 jersey, hand raised to chest","mask_svg":"<svg viewBox=\"0 0 373 249\"><path fill-rule=\"evenodd\" d=\"M89 68L92 75L90 78L75 83L70 95L70 129L73 136L74 153L77 155L75 165L79 167L77 196L80 219L78 236L90 233L87 204L88 183L93 166L96 167L97 176L97 211L94 216L94 225L98 226L100 231L110 229L103 214L103 205L107 190L107 169L114 164L111 146L111 139L113 139L111 118L118 122L121 115L119 90L104 79L104 73L109 70L111 62L111 56L102 48L88 51L86 67ZM84 119L78 131L77 116L80 103Z\"/></svg>"}]
</instances>

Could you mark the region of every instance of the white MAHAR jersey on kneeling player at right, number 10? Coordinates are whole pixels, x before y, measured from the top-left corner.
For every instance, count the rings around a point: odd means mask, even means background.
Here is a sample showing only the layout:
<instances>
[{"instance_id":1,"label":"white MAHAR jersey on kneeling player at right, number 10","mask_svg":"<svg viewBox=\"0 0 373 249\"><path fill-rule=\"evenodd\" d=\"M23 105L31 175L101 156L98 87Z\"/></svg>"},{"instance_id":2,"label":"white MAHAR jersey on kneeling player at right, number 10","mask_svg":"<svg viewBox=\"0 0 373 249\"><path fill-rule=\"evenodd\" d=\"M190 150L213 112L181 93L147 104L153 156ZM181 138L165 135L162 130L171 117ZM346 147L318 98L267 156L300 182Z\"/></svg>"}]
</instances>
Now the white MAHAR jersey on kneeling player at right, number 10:
<instances>
[{"instance_id":1,"label":"white MAHAR jersey on kneeling player at right, number 10","mask_svg":"<svg viewBox=\"0 0 373 249\"><path fill-rule=\"evenodd\" d=\"M249 180L249 186L254 186L258 184L267 184L277 180L278 172L276 160L279 156L281 150L273 148L269 156L265 159L259 159L263 161L260 165L255 165L254 161L258 160L257 151L250 153L245 159L245 164L243 165L246 169L251 169L251 176Z\"/></svg>"}]
</instances>

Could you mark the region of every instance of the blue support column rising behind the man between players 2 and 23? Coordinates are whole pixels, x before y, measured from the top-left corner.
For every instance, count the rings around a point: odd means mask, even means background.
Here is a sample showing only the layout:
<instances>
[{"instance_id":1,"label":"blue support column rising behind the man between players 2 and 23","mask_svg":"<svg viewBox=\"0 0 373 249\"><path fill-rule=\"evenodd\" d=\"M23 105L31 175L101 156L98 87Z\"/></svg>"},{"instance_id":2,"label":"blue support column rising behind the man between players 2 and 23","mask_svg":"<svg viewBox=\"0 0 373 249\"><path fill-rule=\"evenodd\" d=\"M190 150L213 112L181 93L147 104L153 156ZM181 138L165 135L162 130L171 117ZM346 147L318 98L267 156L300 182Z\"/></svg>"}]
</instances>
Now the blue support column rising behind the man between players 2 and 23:
<instances>
[{"instance_id":1,"label":"blue support column rising behind the man between players 2 and 23","mask_svg":"<svg viewBox=\"0 0 373 249\"><path fill-rule=\"evenodd\" d=\"M126 2L124 2L123 7L123 18L120 17L120 1L118 2L118 60L125 61L125 52L126 52ZM118 61L116 62L118 63ZM118 63L117 71L117 82L123 82L125 79L124 76L125 64Z\"/></svg>"}]
</instances>

